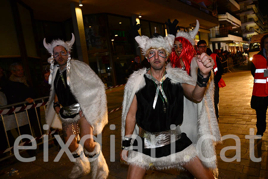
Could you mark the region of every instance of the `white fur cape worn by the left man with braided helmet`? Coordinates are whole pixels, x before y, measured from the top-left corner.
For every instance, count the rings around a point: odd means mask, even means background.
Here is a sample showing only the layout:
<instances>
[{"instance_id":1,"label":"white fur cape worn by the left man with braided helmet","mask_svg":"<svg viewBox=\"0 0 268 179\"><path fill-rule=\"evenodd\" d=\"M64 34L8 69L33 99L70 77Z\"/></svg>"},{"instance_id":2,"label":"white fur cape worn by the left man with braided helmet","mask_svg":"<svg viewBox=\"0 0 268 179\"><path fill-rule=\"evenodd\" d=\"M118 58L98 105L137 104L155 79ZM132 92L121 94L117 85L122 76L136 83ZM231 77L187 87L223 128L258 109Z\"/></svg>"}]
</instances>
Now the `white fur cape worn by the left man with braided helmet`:
<instances>
[{"instance_id":1,"label":"white fur cape worn by the left man with braided helmet","mask_svg":"<svg viewBox=\"0 0 268 179\"><path fill-rule=\"evenodd\" d=\"M62 128L61 120L53 108L55 90L54 79L58 71L56 65L52 73L52 85L46 109L46 123L52 128ZM93 127L93 135L100 134L108 123L105 86L96 73L84 62L70 60L70 90L82 112Z\"/></svg>"}]
</instances>

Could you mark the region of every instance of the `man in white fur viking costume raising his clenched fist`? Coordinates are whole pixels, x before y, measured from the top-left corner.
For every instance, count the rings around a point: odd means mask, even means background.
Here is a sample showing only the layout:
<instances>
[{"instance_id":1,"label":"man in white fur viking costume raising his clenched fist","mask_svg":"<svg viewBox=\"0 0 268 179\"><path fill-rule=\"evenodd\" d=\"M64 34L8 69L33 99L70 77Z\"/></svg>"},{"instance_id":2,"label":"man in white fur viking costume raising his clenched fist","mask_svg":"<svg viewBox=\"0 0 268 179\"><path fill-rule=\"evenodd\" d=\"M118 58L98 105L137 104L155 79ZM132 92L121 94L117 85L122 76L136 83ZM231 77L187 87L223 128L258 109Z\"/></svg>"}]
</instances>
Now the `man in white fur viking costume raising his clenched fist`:
<instances>
[{"instance_id":1,"label":"man in white fur viking costume raising his clenched fist","mask_svg":"<svg viewBox=\"0 0 268 179\"><path fill-rule=\"evenodd\" d=\"M127 178L169 168L187 169L195 178L217 175L215 144L221 136L212 101L214 62L197 55L191 76L165 65L174 39L135 37L151 68L134 72L124 90L120 157L129 164Z\"/></svg>"}]
</instances>

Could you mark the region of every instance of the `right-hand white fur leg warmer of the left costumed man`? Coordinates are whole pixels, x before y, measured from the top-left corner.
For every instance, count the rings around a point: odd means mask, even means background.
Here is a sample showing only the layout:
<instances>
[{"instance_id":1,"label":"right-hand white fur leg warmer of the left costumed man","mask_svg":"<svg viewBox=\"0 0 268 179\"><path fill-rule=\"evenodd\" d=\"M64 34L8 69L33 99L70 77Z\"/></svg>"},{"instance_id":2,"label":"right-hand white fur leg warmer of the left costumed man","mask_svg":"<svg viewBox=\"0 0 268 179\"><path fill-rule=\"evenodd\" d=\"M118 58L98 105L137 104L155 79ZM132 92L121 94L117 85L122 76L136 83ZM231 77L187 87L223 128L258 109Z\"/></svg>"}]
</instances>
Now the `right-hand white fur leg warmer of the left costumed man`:
<instances>
[{"instance_id":1,"label":"right-hand white fur leg warmer of the left costumed man","mask_svg":"<svg viewBox=\"0 0 268 179\"><path fill-rule=\"evenodd\" d=\"M88 152L85 150L86 156L94 156L88 158L91 163L91 178L92 179L106 179L109 174L109 169L104 156L102 155L101 146L99 143L95 142L95 148L93 152Z\"/></svg>"}]
</instances>

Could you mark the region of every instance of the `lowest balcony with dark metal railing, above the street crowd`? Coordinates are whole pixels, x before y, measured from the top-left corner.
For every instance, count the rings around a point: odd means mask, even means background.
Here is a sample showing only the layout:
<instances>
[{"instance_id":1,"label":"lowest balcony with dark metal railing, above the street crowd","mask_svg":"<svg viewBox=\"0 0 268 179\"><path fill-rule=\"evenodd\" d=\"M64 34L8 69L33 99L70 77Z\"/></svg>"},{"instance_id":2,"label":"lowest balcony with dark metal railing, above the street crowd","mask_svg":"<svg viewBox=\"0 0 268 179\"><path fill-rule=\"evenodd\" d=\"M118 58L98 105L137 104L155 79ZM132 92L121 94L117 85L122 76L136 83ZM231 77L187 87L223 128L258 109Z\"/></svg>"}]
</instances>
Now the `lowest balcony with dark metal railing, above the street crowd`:
<instances>
[{"instance_id":1,"label":"lowest balcony with dark metal railing, above the street crowd","mask_svg":"<svg viewBox=\"0 0 268 179\"><path fill-rule=\"evenodd\" d=\"M243 36L237 32L231 30L217 30L211 31L209 34L210 42L225 42L233 43L234 41L242 42Z\"/></svg>"}]
</instances>

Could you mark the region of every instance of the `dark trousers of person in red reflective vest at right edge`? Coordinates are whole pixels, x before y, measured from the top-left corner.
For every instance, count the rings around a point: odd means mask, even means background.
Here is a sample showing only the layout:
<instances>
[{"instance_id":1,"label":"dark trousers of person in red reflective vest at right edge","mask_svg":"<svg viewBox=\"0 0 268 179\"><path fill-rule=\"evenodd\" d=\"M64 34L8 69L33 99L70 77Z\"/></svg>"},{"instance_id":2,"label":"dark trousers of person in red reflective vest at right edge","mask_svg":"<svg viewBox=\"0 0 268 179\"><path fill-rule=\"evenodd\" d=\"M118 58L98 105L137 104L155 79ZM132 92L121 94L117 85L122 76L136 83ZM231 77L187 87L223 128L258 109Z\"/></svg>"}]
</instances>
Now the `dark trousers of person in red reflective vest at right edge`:
<instances>
[{"instance_id":1,"label":"dark trousers of person in red reflective vest at right edge","mask_svg":"<svg viewBox=\"0 0 268 179\"><path fill-rule=\"evenodd\" d=\"M266 130L266 112L267 112L267 107L264 109L256 110L256 117L257 117L257 133L256 135L261 135L263 136L263 133Z\"/></svg>"}]
</instances>

